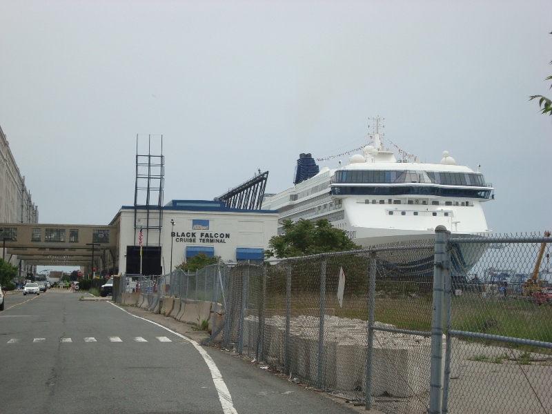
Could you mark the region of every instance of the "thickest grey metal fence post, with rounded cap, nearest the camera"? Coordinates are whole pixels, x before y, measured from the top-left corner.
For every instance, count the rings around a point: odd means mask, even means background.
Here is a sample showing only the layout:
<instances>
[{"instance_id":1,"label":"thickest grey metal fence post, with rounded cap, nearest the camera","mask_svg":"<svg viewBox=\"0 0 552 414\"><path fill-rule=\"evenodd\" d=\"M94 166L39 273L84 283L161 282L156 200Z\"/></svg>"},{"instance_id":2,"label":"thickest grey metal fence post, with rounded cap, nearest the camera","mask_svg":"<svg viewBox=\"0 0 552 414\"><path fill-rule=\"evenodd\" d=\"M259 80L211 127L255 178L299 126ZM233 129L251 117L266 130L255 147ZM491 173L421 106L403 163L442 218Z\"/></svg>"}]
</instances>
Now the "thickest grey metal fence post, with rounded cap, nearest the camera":
<instances>
[{"instance_id":1,"label":"thickest grey metal fence post, with rounded cap, nearest the camera","mask_svg":"<svg viewBox=\"0 0 552 414\"><path fill-rule=\"evenodd\" d=\"M446 262L448 231L435 228L433 264L433 311L431 313L431 376L429 378L429 414L441 414L443 388L443 299L444 279L450 263Z\"/></svg>"}]
</instances>

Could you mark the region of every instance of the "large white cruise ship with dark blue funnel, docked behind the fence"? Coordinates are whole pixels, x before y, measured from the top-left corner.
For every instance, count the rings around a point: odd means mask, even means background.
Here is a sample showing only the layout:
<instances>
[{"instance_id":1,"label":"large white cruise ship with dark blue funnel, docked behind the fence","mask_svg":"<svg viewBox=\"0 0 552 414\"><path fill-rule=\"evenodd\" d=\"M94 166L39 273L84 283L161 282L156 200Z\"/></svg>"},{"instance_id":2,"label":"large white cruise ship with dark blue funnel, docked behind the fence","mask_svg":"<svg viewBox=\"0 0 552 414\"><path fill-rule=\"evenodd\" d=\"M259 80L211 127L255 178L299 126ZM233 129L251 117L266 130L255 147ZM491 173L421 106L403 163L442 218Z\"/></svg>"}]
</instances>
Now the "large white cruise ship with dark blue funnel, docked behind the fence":
<instances>
[{"instance_id":1,"label":"large white cruise ship with dark blue funnel, docked behind the fence","mask_svg":"<svg viewBox=\"0 0 552 414\"><path fill-rule=\"evenodd\" d=\"M279 232L286 219L328 219L364 247L432 239L440 224L453 235L491 233L482 204L494 199L494 189L479 167L457 165L446 151L437 164L396 159L375 121L373 144L346 165L319 170L310 154L300 155L295 185L266 195L262 205L278 210ZM486 249L481 246L461 260L464 272Z\"/></svg>"}]
</instances>

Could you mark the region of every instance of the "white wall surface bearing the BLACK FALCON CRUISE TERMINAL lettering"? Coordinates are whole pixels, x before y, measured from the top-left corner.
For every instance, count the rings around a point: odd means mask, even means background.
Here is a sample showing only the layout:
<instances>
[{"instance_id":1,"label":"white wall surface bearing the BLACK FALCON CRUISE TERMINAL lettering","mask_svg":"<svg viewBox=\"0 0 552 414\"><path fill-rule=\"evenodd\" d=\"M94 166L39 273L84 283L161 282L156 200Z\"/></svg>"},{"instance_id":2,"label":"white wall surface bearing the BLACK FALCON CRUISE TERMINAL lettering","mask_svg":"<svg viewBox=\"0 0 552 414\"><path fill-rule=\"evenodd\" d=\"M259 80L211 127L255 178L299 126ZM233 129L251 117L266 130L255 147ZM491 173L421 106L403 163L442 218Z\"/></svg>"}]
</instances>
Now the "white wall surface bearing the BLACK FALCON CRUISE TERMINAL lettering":
<instances>
[{"instance_id":1,"label":"white wall surface bearing the BLACK FALCON CRUISE TERMINAL lettering","mask_svg":"<svg viewBox=\"0 0 552 414\"><path fill-rule=\"evenodd\" d=\"M123 208L112 224L119 226L119 273L126 273L126 248L139 246L139 228L135 231L134 210ZM146 230L146 213L139 210L137 219L144 226L142 246L159 246L159 230ZM170 220L175 221L172 226ZM193 230L193 220L208 220L208 230ZM140 222L139 221L139 222ZM152 217L150 210L150 226L157 224L159 219ZM172 239L172 269L186 261L186 246L213 247L215 256L223 260L236 261L236 249L268 248L270 237L277 235L278 213L259 213L255 210L239 211L195 211L195 210L163 210L161 220L161 266L163 273L170 272L171 232L177 233ZM195 233L196 237L186 237L186 233ZM201 239L215 237L201 237L201 233L224 233L225 237L217 237L224 242L210 243ZM229 235L229 237L226 237ZM195 242L190 239L195 239Z\"/></svg>"}]
</instances>

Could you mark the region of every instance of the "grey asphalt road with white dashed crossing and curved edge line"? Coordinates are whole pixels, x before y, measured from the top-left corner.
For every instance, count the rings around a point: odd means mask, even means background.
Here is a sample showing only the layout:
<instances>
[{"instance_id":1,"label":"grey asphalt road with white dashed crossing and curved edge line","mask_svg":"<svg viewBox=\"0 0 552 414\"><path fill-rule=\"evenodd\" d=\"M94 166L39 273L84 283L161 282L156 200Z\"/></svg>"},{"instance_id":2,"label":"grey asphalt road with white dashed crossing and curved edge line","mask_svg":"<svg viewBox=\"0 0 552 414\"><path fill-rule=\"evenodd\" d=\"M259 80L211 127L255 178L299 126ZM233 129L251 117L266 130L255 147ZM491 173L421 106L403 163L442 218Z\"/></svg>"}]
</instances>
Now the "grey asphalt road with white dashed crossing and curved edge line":
<instances>
[{"instance_id":1,"label":"grey asphalt road with white dashed crossing and curved edge line","mask_svg":"<svg viewBox=\"0 0 552 414\"><path fill-rule=\"evenodd\" d=\"M6 297L0 413L353 412L125 308L81 301L81 295L48 290Z\"/></svg>"}]
</instances>

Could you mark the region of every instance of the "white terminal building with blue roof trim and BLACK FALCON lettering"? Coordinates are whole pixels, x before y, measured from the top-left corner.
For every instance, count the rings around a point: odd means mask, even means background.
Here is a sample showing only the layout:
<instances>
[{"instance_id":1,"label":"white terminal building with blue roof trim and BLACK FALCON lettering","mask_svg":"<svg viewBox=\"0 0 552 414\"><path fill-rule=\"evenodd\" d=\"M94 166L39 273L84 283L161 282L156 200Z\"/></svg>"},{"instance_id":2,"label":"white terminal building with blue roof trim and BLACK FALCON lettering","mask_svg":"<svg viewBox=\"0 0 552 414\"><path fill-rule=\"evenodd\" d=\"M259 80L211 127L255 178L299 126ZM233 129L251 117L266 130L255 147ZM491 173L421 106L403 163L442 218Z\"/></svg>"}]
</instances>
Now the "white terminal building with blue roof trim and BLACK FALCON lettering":
<instances>
[{"instance_id":1,"label":"white terminal building with blue roof trim and BLACK FALCON lettering","mask_svg":"<svg viewBox=\"0 0 552 414\"><path fill-rule=\"evenodd\" d=\"M224 201L172 200L161 209L161 226L148 225L157 219L146 208L121 207L110 223L117 229L118 273L170 273L198 253L226 262L262 262L270 237L277 234L278 213L230 208Z\"/></svg>"}]
</instances>

